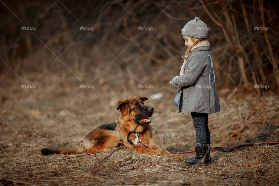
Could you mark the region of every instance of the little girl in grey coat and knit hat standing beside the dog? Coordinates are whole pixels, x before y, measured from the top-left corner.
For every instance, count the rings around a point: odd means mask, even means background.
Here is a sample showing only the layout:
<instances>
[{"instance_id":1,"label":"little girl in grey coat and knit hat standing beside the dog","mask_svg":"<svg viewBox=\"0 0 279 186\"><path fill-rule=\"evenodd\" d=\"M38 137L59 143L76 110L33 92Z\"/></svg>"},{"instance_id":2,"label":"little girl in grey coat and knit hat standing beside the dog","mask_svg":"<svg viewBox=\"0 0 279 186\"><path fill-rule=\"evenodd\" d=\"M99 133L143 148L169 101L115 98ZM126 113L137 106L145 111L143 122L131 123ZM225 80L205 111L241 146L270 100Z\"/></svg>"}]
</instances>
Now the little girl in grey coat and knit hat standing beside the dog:
<instances>
[{"instance_id":1,"label":"little girl in grey coat and knit hat standing beside the dog","mask_svg":"<svg viewBox=\"0 0 279 186\"><path fill-rule=\"evenodd\" d=\"M206 40L208 28L196 17L181 31L188 48L183 57L180 76L174 77L169 83L174 88L181 88L178 113L191 112L196 130L196 157L187 158L186 164L208 164L211 160L208 114L220 111L210 44Z\"/></svg>"}]
</instances>

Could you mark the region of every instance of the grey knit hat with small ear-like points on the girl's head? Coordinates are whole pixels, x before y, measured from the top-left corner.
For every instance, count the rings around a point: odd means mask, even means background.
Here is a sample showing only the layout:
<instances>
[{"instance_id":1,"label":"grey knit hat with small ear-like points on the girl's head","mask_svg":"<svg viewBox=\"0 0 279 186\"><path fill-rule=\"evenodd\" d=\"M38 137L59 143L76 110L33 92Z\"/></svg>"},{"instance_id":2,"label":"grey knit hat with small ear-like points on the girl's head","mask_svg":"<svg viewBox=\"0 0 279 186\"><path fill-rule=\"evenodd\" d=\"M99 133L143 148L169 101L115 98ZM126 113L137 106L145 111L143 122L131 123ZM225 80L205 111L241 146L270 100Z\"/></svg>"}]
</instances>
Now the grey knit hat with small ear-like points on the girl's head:
<instances>
[{"instance_id":1,"label":"grey knit hat with small ear-like points on the girl's head","mask_svg":"<svg viewBox=\"0 0 279 186\"><path fill-rule=\"evenodd\" d=\"M194 38L206 38L208 34L208 28L199 17L195 17L195 19L185 24L181 34Z\"/></svg>"}]
</instances>

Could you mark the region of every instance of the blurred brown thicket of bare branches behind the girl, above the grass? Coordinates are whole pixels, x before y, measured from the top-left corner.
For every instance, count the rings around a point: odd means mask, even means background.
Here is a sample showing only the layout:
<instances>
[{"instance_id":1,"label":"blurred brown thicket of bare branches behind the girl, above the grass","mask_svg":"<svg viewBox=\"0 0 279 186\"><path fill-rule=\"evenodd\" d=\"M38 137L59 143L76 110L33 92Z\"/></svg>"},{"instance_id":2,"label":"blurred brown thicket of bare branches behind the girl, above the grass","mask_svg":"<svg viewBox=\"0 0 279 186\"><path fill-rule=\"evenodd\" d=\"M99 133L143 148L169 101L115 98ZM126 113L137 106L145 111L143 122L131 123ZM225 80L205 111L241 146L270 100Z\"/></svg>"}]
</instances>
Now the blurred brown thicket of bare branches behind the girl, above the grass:
<instances>
[{"instance_id":1,"label":"blurred brown thicket of bare branches behind the girl, above the grass","mask_svg":"<svg viewBox=\"0 0 279 186\"><path fill-rule=\"evenodd\" d=\"M197 16L219 88L278 93L278 10L278 1L3 1L1 80L164 85L183 62L180 30Z\"/></svg>"}]
</instances>

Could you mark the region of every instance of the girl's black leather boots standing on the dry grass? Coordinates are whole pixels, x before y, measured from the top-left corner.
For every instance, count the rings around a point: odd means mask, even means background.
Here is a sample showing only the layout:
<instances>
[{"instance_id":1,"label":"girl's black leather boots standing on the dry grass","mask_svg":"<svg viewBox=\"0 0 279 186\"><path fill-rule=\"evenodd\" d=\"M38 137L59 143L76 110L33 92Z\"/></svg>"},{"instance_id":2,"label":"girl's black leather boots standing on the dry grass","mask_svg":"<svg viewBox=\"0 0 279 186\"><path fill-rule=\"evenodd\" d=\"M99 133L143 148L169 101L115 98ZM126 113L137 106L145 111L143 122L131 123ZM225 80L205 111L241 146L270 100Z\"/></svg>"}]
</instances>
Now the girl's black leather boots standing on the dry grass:
<instances>
[{"instance_id":1,"label":"girl's black leather boots standing on the dry grass","mask_svg":"<svg viewBox=\"0 0 279 186\"><path fill-rule=\"evenodd\" d=\"M186 164L195 165L207 165L210 161L210 144L201 144L200 146L196 146L196 157L187 158Z\"/></svg>"}]
</instances>

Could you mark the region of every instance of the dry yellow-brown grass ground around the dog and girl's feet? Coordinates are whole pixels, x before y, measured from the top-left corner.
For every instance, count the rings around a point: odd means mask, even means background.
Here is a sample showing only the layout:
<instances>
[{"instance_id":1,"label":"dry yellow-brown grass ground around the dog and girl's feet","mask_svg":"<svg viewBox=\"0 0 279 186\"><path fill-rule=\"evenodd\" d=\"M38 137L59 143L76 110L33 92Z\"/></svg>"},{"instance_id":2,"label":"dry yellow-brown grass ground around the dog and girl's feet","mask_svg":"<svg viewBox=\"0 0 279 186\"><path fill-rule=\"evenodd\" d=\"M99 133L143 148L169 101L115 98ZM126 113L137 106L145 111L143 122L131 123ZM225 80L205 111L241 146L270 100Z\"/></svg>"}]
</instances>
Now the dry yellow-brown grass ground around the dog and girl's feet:
<instances>
[{"instance_id":1,"label":"dry yellow-brown grass ground around the dog and girl's feet","mask_svg":"<svg viewBox=\"0 0 279 186\"><path fill-rule=\"evenodd\" d=\"M36 76L28 74L29 79ZM185 159L193 155L181 155L184 160L178 161L164 155L143 155L123 148L76 158L77 155L41 155L43 147L79 142L93 128L114 122L114 118L119 117L118 100L137 94L151 98L159 92L163 94L161 99L145 101L146 105L155 108L151 122L155 140L169 151L194 149L191 115L176 112L177 107L172 102L176 90L168 83L153 84L149 90L137 89L136 85L130 86L129 83L123 83L121 87L106 81L91 90L80 89L81 83L72 81L72 76L69 72L63 78L63 75L46 71L35 82L35 90L22 89L19 78L1 76L0 184L279 184L279 146L212 151L213 162L199 167L185 165ZM232 90L227 88L218 91L221 112L209 115L212 146L279 142L278 96L272 92L266 92L262 97L245 94L261 116L240 94L230 95ZM27 145L22 146L23 143ZM71 159L62 160L65 158ZM41 165L28 167L35 164Z\"/></svg>"}]
</instances>

